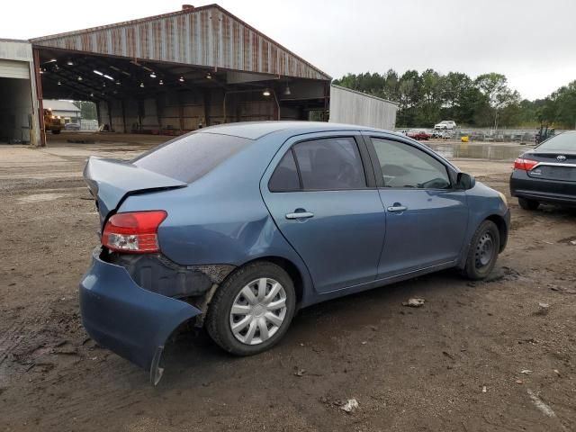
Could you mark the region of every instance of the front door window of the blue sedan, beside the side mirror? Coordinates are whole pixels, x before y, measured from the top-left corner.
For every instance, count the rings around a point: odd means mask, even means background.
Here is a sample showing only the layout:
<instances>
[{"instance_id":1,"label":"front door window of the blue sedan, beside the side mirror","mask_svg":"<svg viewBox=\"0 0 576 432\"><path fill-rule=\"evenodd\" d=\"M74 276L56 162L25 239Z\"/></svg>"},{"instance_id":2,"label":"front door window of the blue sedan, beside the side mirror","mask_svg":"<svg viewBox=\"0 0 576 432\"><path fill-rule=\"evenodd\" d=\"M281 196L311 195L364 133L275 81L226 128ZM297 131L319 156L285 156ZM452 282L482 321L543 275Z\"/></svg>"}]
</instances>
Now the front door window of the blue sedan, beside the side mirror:
<instances>
[{"instance_id":1,"label":"front door window of the blue sedan, beside the side mirror","mask_svg":"<svg viewBox=\"0 0 576 432\"><path fill-rule=\"evenodd\" d=\"M446 166L428 153L390 139L373 138L384 187L449 189Z\"/></svg>"}]
</instances>

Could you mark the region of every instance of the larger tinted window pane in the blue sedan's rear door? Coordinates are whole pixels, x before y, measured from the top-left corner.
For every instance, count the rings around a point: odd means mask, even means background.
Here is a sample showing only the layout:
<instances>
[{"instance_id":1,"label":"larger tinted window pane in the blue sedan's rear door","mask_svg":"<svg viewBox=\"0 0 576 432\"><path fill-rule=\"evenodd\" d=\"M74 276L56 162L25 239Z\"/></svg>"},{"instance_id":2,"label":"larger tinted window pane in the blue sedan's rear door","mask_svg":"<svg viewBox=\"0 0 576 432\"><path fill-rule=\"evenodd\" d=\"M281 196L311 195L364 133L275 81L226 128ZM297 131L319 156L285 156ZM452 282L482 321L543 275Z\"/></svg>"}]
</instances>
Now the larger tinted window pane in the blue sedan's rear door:
<instances>
[{"instance_id":1,"label":"larger tinted window pane in the blue sedan's rear door","mask_svg":"<svg viewBox=\"0 0 576 432\"><path fill-rule=\"evenodd\" d=\"M366 187L356 140L314 139L293 147L304 190L341 190Z\"/></svg>"}]
</instances>

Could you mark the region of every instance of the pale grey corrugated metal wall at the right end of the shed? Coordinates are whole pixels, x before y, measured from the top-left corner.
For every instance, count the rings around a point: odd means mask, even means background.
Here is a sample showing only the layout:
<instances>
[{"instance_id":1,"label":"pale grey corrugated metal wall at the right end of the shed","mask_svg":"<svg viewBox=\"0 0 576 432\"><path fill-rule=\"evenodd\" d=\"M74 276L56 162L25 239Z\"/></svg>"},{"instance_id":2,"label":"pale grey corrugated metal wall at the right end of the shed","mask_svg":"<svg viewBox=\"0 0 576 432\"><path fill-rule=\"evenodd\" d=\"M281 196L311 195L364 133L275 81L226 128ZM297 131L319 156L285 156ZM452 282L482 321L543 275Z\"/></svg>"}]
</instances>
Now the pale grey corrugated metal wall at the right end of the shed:
<instances>
[{"instance_id":1,"label":"pale grey corrugated metal wall at the right end of the shed","mask_svg":"<svg viewBox=\"0 0 576 432\"><path fill-rule=\"evenodd\" d=\"M338 85L330 86L330 120L394 130L398 105Z\"/></svg>"}]
</instances>

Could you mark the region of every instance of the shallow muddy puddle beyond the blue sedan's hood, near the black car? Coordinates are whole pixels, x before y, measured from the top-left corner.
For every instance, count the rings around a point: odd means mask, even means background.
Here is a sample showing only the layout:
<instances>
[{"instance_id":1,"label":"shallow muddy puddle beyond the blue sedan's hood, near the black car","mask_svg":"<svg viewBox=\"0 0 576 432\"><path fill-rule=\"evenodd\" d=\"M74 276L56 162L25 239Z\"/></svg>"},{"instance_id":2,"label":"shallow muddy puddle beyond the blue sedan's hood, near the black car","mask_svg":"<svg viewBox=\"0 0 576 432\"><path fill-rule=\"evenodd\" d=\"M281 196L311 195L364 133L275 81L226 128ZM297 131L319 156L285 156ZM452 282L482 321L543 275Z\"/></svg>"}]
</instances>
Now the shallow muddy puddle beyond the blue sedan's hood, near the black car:
<instances>
[{"instance_id":1,"label":"shallow muddy puddle beyond the blue sedan's hood, near the black car","mask_svg":"<svg viewBox=\"0 0 576 432\"><path fill-rule=\"evenodd\" d=\"M427 142L438 154L448 159L472 157L477 159L503 160L511 162L531 146L468 142Z\"/></svg>"}]
</instances>

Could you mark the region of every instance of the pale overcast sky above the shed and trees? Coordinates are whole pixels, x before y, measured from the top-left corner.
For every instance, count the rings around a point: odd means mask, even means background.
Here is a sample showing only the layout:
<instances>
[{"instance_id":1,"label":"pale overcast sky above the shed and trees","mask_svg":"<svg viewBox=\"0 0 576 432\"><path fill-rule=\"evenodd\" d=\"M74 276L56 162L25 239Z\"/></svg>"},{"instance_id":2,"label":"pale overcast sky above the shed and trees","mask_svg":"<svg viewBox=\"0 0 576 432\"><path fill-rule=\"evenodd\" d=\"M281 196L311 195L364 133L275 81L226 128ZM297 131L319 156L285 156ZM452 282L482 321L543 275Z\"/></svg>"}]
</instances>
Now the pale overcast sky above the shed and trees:
<instances>
[{"instance_id":1,"label":"pale overcast sky above the shed and trees","mask_svg":"<svg viewBox=\"0 0 576 432\"><path fill-rule=\"evenodd\" d=\"M30 39L180 9L98 0L4 3L0 38ZM209 2L205 3L208 4ZM500 72L523 97L576 80L575 0L220 0L232 14L330 76L389 68Z\"/></svg>"}]
</instances>

